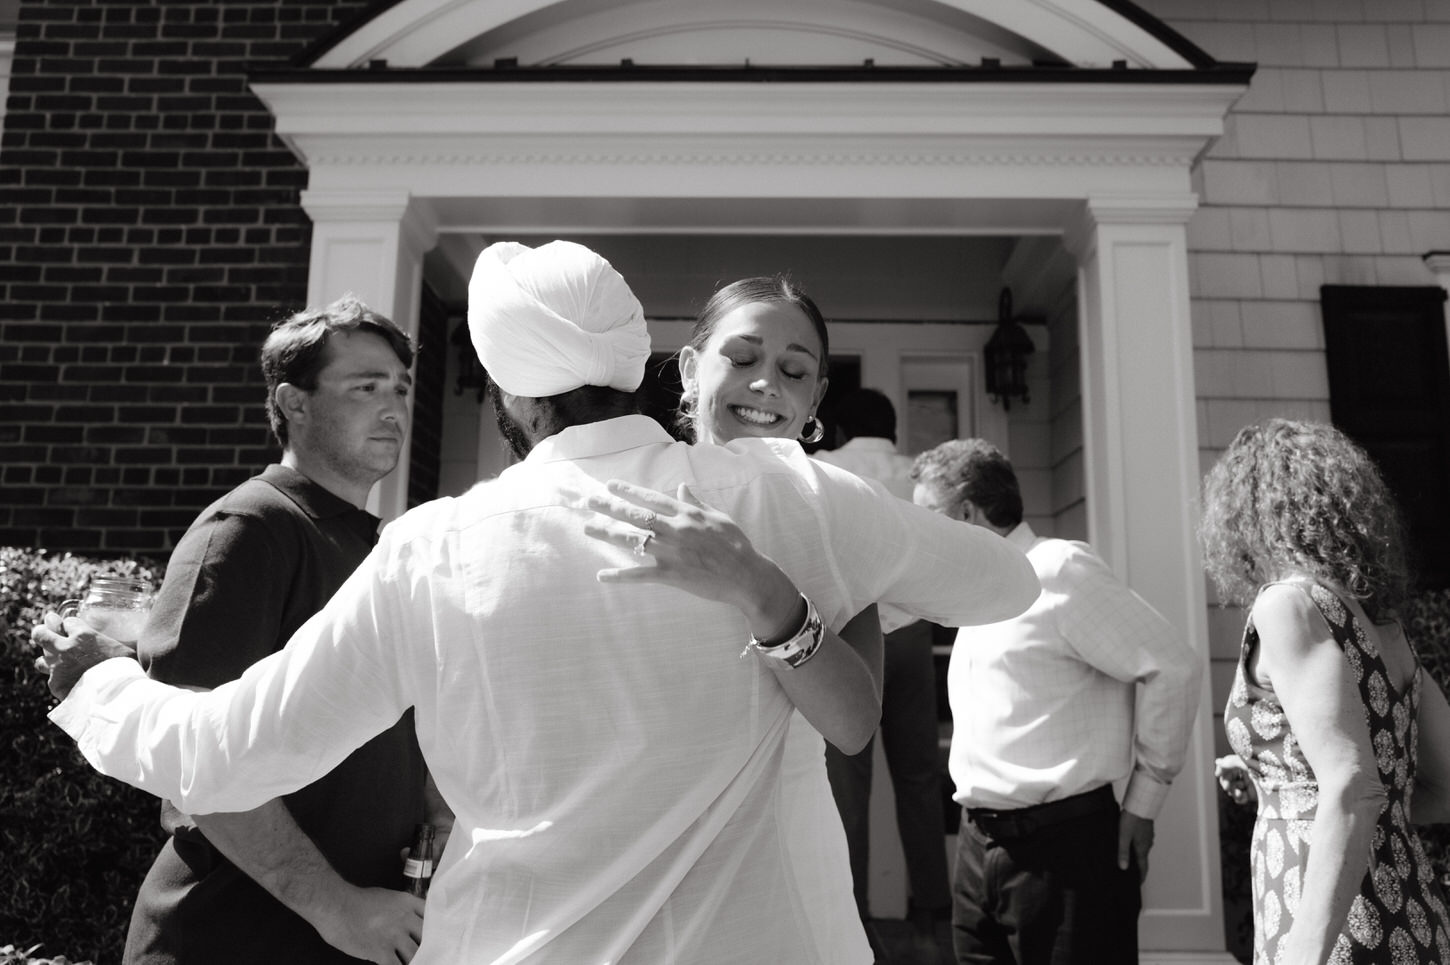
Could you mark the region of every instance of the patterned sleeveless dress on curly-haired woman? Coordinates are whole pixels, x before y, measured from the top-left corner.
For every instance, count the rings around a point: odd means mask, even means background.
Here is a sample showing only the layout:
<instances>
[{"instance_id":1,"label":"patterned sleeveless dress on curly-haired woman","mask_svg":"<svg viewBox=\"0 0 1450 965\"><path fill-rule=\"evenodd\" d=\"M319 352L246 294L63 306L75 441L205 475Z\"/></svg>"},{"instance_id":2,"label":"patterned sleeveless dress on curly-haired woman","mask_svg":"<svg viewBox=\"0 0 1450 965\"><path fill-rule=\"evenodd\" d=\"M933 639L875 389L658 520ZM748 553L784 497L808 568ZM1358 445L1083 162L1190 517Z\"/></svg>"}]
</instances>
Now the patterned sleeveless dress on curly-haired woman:
<instances>
[{"instance_id":1,"label":"patterned sleeveless dress on curly-haired woman","mask_svg":"<svg viewBox=\"0 0 1450 965\"><path fill-rule=\"evenodd\" d=\"M1417 665L1405 693L1396 693L1385 661L1350 609L1324 585L1290 585L1314 600L1359 681L1379 780L1389 795L1389 804L1375 826L1369 871L1330 964L1450 965L1450 922L1430 862L1409 826L1422 671ZM1279 700L1270 690L1248 680L1248 655L1257 645L1259 632L1250 617L1234 688L1224 710L1224 729L1259 791L1259 817L1250 852L1256 910L1254 965L1273 965L1279 961L1279 945L1288 936L1299 904L1318 784Z\"/></svg>"}]
</instances>

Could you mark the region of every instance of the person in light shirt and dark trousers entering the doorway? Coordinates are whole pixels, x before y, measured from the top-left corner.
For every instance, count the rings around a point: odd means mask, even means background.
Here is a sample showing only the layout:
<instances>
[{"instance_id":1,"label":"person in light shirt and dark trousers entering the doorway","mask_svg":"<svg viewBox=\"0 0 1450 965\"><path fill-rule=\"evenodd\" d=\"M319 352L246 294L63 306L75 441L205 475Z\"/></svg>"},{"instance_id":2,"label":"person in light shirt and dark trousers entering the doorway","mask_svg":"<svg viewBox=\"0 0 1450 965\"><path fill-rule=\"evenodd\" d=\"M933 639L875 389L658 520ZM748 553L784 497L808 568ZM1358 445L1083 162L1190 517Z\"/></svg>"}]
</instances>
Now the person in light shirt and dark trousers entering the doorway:
<instances>
[{"instance_id":1,"label":"person in light shirt and dark trousers entering the doorway","mask_svg":"<svg viewBox=\"0 0 1450 965\"><path fill-rule=\"evenodd\" d=\"M896 409L874 388L848 393L835 406L835 422L845 442L822 451L822 462L876 480L899 498L909 500L915 484L912 458L896 451ZM908 920L918 939L934 940L938 919L950 917L945 817L941 810L941 771L937 758L937 671L932 662L932 624L893 607L880 607L886 633L882 681L882 751L896 797L896 830L906 856L911 884ZM861 919L869 917L871 745L858 753L826 748L831 791L841 809L851 851L851 875ZM925 945L927 942L919 942Z\"/></svg>"}]
</instances>

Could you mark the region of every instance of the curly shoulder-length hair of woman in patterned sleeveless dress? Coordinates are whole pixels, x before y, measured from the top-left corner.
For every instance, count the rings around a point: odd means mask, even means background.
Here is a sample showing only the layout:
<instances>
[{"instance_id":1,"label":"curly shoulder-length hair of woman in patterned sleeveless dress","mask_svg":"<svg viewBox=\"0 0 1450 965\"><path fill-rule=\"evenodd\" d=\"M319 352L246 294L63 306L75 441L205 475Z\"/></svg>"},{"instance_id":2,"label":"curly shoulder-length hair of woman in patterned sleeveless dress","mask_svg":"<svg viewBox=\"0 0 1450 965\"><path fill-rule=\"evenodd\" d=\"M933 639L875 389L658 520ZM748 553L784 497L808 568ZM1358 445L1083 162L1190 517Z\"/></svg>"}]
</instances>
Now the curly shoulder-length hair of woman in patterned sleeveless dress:
<instances>
[{"instance_id":1,"label":"curly shoulder-length hair of woman in patterned sleeveless dress","mask_svg":"<svg viewBox=\"0 0 1450 965\"><path fill-rule=\"evenodd\" d=\"M1376 622L1409 596L1395 497L1334 426L1270 419L1240 429L1204 480L1198 533L1228 603L1251 604L1288 571L1338 584Z\"/></svg>"}]
</instances>

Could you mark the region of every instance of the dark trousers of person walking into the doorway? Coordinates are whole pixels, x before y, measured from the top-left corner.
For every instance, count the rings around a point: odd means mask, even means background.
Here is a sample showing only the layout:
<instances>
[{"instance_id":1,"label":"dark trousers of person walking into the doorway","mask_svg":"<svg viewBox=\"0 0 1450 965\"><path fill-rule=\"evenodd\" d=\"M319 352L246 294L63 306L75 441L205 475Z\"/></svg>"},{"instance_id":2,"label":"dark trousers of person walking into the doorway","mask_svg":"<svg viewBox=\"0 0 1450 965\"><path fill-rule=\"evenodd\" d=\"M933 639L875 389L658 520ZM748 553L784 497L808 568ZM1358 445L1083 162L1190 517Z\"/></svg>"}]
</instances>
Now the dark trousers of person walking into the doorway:
<instances>
[{"instance_id":1,"label":"dark trousers of person walking into the doorway","mask_svg":"<svg viewBox=\"0 0 1450 965\"><path fill-rule=\"evenodd\" d=\"M919 622L886 635L880 736L896 794L896 830L906 855L911 903L914 908L922 910L945 910L951 903L937 733L937 669L931 659L931 624ZM864 922L870 917L866 895L871 743L853 755L826 745L825 766L845 826L856 906Z\"/></svg>"}]
</instances>

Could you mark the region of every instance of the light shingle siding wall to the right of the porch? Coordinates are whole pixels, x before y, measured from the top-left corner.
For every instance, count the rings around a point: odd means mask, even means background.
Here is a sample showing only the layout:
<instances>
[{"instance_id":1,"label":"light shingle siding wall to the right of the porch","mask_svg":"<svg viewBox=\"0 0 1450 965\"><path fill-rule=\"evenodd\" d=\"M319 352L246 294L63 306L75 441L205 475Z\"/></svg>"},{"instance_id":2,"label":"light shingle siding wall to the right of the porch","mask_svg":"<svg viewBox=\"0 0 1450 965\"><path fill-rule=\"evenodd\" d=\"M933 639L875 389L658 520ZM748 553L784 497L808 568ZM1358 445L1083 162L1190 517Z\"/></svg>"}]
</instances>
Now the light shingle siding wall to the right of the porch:
<instances>
[{"instance_id":1,"label":"light shingle siding wall to the right of the porch","mask_svg":"<svg viewBox=\"0 0 1450 965\"><path fill-rule=\"evenodd\" d=\"M1259 64L1189 223L1206 469L1246 423L1328 420L1320 285L1437 284L1422 256L1450 248L1450 3L1140 3L1219 61ZM1215 714L1241 629L1211 609Z\"/></svg>"}]
</instances>

